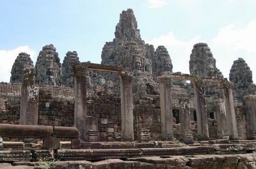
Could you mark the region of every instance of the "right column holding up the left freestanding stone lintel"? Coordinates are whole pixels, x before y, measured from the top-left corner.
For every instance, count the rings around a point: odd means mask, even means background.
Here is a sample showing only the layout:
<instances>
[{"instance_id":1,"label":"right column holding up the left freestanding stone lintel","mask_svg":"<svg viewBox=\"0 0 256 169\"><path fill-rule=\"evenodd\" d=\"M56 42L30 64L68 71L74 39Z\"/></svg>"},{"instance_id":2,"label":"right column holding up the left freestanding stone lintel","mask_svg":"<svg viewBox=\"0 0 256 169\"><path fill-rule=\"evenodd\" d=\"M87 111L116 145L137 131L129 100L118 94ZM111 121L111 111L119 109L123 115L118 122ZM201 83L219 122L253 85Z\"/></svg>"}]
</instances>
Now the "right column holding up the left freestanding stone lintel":
<instances>
[{"instance_id":1,"label":"right column holding up the left freestanding stone lintel","mask_svg":"<svg viewBox=\"0 0 256 169\"><path fill-rule=\"evenodd\" d=\"M121 120L122 141L134 141L133 131L133 97L132 97L132 75L129 72L120 73L121 92Z\"/></svg>"}]
</instances>

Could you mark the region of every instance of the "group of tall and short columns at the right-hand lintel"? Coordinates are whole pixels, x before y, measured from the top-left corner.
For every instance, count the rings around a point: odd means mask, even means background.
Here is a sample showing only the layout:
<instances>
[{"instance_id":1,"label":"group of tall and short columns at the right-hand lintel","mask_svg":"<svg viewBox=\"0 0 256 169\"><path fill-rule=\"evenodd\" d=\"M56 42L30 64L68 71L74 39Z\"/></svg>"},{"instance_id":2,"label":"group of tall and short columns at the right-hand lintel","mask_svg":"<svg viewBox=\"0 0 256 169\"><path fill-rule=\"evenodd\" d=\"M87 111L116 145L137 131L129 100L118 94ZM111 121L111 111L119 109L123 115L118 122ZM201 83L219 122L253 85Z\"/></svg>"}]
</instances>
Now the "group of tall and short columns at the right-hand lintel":
<instances>
[{"instance_id":1,"label":"group of tall and short columns at the right-hand lintel","mask_svg":"<svg viewBox=\"0 0 256 169\"><path fill-rule=\"evenodd\" d=\"M173 117L172 117L172 97L171 97L171 87L170 87L170 77L161 77L158 80L159 89L160 89L160 105L161 105L161 127L162 127L162 139L163 140L172 140L173 138ZM195 106L196 106L196 117L197 117L197 129L199 138L202 140L209 139L209 129L208 129L208 117L206 113L206 105L205 105L205 92L204 92L204 80L194 79L191 80L194 92L195 92ZM232 94L232 86L230 82L225 82L221 84L223 87L223 97L225 104L225 116L219 117L218 130L222 133L224 138L228 136L232 139L238 138L237 133L237 124L236 124L236 114L234 110L234 101ZM220 104L219 112L220 110ZM189 142L189 138L191 135L189 134L190 129L190 119L187 118L190 111L188 109L189 103L188 101L180 101L180 117L181 117L181 135L188 136L187 141ZM223 108L223 107L222 107ZM223 115L223 114L221 114ZM189 117L189 116L188 116ZM225 121L223 120L225 118ZM227 119L227 121L226 121ZM255 125L256 126L256 125ZM187 133L186 133L187 132ZM181 138L184 140L185 138Z\"/></svg>"}]
</instances>

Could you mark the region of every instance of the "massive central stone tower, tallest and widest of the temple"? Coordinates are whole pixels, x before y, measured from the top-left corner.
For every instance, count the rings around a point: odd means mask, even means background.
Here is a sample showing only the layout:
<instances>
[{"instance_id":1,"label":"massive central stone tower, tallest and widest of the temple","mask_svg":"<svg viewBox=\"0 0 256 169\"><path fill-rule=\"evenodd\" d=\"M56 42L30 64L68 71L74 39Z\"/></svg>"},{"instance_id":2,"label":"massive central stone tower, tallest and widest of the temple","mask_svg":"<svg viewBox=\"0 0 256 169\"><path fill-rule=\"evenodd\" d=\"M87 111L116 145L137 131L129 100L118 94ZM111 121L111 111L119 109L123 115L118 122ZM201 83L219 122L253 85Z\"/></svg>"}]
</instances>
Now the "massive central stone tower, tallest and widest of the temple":
<instances>
[{"instance_id":1,"label":"massive central stone tower, tallest and widest of the temple","mask_svg":"<svg viewBox=\"0 0 256 169\"><path fill-rule=\"evenodd\" d=\"M116 25L115 39L107 42L102 48L102 64L120 66L132 71L134 78L132 91L140 97L156 92L156 82L152 78L152 58L154 46L141 40L140 30L131 9L122 11ZM109 79L118 82L118 78L104 74ZM118 86L116 87L118 88ZM117 91L115 89L115 91ZM136 98L135 98L136 100Z\"/></svg>"}]
</instances>

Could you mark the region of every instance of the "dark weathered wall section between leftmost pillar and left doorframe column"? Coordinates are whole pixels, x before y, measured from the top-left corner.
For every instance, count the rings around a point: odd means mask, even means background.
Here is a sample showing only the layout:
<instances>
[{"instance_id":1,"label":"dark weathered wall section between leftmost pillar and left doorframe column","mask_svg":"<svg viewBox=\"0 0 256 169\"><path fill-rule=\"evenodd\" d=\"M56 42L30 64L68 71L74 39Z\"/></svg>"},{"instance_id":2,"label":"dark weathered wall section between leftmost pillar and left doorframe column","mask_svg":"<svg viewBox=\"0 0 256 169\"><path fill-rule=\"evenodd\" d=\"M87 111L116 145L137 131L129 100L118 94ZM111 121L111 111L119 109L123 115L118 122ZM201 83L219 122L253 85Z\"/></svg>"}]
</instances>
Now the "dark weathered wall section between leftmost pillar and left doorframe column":
<instances>
[{"instance_id":1,"label":"dark weathered wall section between leftmost pillar and left doorframe column","mask_svg":"<svg viewBox=\"0 0 256 169\"><path fill-rule=\"evenodd\" d=\"M73 89L63 89L62 91L60 87L40 88L38 104L38 125L74 125Z\"/></svg>"}]
</instances>

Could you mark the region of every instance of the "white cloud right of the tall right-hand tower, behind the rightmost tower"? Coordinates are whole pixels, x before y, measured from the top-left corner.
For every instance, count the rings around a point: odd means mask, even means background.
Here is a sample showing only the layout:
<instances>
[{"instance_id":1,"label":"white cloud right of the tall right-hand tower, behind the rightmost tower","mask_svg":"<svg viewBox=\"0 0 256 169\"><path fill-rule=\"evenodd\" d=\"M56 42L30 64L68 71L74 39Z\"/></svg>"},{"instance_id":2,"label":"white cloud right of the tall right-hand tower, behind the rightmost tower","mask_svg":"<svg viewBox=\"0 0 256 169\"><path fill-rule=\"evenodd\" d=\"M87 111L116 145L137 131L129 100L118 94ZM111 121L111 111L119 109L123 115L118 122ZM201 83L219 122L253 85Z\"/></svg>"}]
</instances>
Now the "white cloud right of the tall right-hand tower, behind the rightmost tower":
<instances>
[{"instance_id":1,"label":"white cloud right of the tall right-hand tower, behind the rightmost tower","mask_svg":"<svg viewBox=\"0 0 256 169\"><path fill-rule=\"evenodd\" d=\"M256 20L244 27L223 27L209 45L225 77L228 77L233 61L242 57L253 71L253 82L256 83Z\"/></svg>"}]
</instances>

